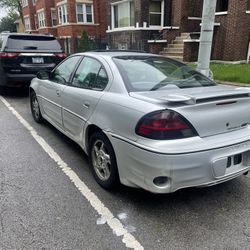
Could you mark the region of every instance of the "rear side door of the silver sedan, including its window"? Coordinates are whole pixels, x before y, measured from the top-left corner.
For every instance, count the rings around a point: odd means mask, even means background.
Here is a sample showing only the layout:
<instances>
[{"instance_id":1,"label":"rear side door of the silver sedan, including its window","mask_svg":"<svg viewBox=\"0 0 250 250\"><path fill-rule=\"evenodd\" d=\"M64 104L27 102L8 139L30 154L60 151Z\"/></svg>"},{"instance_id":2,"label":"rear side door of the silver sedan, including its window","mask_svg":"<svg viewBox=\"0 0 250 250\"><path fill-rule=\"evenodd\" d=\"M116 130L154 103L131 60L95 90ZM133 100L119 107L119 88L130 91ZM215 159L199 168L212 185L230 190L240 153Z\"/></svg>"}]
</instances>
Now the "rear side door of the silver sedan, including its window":
<instances>
[{"instance_id":1,"label":"rear side door of the silver sedan, including its window","mask_svg":"<svg viewBox=\"0 0 250 250\"><path fill-rule=\"evenodd\" d=\"M103 65L96 59L84 57L71 85L63 91L63 125L75 141L81 142L83 127L93 113L108 76Z\"/></svg>"}]
</instances>

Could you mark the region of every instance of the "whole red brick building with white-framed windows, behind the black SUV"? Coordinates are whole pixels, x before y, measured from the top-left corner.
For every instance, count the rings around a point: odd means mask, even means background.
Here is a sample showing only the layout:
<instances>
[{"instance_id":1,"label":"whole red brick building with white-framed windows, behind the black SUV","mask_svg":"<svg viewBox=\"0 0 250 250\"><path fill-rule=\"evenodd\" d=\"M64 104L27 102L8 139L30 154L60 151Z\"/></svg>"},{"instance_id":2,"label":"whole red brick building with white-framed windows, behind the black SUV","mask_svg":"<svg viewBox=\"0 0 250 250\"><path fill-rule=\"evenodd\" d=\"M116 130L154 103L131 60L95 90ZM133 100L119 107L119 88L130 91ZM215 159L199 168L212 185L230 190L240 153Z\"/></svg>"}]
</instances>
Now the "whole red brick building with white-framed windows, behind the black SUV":
<instances>
[{"instance_id":1,"label":"whole red brick building with white-framed windows, behind the black SUV","mask_svg":"<svg viewBox=\"0 0 250 250\"><path fill-rule=\"evenodd\" d=\"M26 32L52 34L67 53L77 52L83 30L106 46L106 5L102 0L22 0Z\"/></svg>"}]
</instances>

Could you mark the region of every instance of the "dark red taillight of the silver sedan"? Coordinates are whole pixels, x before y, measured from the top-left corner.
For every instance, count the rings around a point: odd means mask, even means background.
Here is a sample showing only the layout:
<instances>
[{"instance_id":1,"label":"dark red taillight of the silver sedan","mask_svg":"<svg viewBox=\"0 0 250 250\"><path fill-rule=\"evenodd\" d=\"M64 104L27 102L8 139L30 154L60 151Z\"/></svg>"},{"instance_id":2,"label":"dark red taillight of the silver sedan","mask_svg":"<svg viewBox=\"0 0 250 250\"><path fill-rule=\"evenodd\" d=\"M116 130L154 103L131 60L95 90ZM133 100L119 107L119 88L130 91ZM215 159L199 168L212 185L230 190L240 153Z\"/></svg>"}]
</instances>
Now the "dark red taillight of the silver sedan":
<instances>
[{"instance_id":1,"label":"dark red taillight of the silver sedan","mask_svg":"<svg viewBox=\"0 0 250 250\"><path fill-rule=\"evenodd\" d=\"M164 110L142 117L136 134L155 140L174 140L196 136L197 132L180 114Z\"/></svg>"}]
</instances>

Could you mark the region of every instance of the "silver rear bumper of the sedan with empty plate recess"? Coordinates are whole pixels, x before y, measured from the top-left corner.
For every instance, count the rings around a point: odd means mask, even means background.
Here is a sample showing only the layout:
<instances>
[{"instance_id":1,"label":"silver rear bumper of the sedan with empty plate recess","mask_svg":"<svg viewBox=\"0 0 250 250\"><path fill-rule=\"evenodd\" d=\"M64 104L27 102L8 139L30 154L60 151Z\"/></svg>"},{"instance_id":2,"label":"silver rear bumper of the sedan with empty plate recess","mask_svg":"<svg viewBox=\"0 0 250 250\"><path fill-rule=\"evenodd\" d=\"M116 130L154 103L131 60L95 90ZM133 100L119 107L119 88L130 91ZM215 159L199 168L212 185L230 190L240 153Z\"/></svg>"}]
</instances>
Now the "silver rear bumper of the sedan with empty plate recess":
<instances>
[{"instance_id":1,"label":"silver rear bumper of the sedan with empty plate recess","mask_svg":"<svg viewBox=\"0 0 250 250\"><path fill-rule=\"evenodd\" d=\"M162 154L111 136L121 183L153 193L171 193L187 187L211 186L250 170L250 141L194 153ZM242 156L228 166L228 159ZM163 185L154 179L167 177Z\"/></svg>"}]
</instances>

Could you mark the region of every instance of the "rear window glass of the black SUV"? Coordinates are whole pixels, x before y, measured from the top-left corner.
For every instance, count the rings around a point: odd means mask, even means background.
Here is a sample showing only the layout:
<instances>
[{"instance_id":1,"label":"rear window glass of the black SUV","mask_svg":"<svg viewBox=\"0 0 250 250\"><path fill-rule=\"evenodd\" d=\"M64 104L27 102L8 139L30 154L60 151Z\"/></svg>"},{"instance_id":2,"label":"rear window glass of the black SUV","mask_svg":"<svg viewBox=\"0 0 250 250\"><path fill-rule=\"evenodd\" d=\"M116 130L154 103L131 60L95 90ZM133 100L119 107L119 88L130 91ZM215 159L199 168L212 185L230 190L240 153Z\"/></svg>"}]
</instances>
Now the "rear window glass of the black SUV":
<instances>
[{"instance_id":1,"label":"rear window glass of the black SUV","mask_svg":"<svg viewBox=\"0 0 250 250\"><path fill-rule=\"evenodd\" d=\"M9 36L7 50L61 51L61 46L54 37L46 36Z\"/></svg>"}]
</instances>

